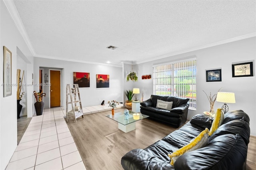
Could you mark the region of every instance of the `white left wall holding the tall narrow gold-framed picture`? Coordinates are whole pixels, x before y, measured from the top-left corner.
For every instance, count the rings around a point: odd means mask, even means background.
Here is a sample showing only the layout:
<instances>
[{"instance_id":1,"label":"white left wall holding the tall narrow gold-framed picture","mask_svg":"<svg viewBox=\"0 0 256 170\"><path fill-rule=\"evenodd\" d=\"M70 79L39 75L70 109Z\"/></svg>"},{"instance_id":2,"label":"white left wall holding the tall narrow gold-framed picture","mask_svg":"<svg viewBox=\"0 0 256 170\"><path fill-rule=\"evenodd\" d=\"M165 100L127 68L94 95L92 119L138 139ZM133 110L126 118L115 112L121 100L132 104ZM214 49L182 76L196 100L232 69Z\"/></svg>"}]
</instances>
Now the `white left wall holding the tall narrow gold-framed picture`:
<instances>
[{"instance_id":1,"label":"white left wall holding the tall narrow gold-framed picture","mask_svg":"<svg viewBox=\"0 0 256 170\"><path fill-rule=\"evenodd\" d=\"M3 1L0 1L0 84L3 83L3 46L12 51L12 83L16 83L17 71L17 49L20 49L27 61L33 63L32 54L24 42L20 32L16 28L12 18L10 17ZM29 69L28 69L29 68ZM27 63L27 73L32 74L33 65ZM32 77L28 78L31 81ZM32 91L28 88L28 94ZM3 87L0 88L0 169L5 169L12 154L17 147L17 103L16 103L15 86L12 87L12 95L3 97ZM32 98L27 98L31 103L30 110L32 112Z\"/></svg>"}]
</instances>

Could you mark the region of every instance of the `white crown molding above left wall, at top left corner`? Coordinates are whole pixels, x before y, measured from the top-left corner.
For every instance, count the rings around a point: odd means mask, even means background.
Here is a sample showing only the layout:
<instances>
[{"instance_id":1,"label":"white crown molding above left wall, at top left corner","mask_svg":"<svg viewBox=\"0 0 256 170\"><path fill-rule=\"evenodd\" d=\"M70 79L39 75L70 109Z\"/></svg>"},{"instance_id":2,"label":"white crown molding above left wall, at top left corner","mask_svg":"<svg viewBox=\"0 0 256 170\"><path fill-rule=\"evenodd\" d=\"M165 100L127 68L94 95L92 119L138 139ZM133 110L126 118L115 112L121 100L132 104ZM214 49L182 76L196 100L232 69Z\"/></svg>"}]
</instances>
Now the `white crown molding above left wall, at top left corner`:
<instances>
[{"instance_id":1,"label":"white crown molding above left wall, at top left corner","mask_svg":"<svg viewBox=\"0 0 256 170\"><path fill-rule=\"evenodd\" d=\"M24 25L20 19L20 15L17 11L17 8L16 8L13 0L3 0L3 2L4 2L4 5L6 6L7 11L9 12L10 16L12 17L14 24L16 25L21 36L23 37L24 41L28 45L30 52L32 53L32 55L35 55L36 53L35 53L34 48L30 42L30 39L28 38L28 34L27 34L27 32L24 28Z\"/></svg>"}]
</instances>

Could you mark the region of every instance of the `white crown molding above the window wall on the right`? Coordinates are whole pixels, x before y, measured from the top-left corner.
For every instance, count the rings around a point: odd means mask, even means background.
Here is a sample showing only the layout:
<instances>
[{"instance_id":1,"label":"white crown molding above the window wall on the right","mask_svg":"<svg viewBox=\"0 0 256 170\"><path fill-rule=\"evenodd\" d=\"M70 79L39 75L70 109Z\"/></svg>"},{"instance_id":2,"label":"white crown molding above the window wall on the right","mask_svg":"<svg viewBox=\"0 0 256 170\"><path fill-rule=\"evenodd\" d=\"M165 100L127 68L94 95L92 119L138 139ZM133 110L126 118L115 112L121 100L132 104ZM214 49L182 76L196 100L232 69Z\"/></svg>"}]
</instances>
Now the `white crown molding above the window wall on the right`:
<instances>
[{"instance_id":1,"label":"white crown molding above the window wall on the right","mask_svg":"<svg viewBox=\"0 0 256 170\"><path fill-rule=\"evenodd\" d=\"M174 56L174 55L188 53L188 52L191 52L191 51L196 51L196 50L204 49L204 48L208 48L208 47L214 47L214 46L222 45L222 44L225 44L225 43L244 40L246 38L252 38L252 37L255 37L255 36L256 36L256 32L253 32L253 33L250 33L250 34L245 34L243 36L238 36L238 37L230 38L230 39L227 39L227 40L222 40L222 41L218 41L218 42L214 42L214 43L210 43L210 44L206 44L206 45L193 47L193 48L190 48L190 49L185 49L185 50L182 50L182 51L177 51L177 52L174 52L174 53L162 55L162 56L156 57L154 59L148 59L146 61L138 61L137 64L146 63L146 62L149 62L149 61L156 61L158 59L163 59L163 58L166 58L166 57L171 57L171 56Z\"/></svg>"}]
</instances>

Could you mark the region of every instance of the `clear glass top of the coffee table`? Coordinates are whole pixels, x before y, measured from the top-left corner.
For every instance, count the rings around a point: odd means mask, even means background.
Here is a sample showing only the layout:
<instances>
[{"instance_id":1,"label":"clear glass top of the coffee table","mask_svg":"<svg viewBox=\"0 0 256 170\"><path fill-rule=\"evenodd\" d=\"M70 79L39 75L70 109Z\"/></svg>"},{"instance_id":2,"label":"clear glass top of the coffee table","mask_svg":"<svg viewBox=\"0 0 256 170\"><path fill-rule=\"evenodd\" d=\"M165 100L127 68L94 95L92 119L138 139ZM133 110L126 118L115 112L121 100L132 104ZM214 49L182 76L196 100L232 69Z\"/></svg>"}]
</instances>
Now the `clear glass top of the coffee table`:
<instances>
[{"instance_id":1,"label":"clear glass top of the coffee table","mask_svg":"<svg viewBox=\"0 0 256 170\"><path fill-rule=\"evenodd\" d=\"M143 115L141 113L129 111L128 117L125 117L124 113L122 113L122 112L115 113L114 116L106 115L106 117L113 119L114 121L121 123L122 125L128 125L129 123L139 121L139 120L147 118L149 116Z\"/></svg>"}]
</instances>

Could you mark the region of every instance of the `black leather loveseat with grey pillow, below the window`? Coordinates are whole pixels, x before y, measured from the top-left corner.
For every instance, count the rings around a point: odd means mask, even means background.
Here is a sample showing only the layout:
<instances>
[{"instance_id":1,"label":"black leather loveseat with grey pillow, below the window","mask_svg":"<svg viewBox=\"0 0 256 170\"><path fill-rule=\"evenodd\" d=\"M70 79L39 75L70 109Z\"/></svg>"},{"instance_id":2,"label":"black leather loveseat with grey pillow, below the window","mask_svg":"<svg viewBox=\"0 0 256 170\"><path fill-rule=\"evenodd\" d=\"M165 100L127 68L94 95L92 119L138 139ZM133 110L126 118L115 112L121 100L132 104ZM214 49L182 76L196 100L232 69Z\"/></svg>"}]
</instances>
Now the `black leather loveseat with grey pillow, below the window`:
<instances>
[{"instance_id":1,"label":"black leather loveseat with grey pillow, below the window","mask_svg":"<svg viewBox=\"0 0 256 170\"><path fill-rule=\"evenodd\" d=\"M157 107L158 100L173 102L170 110ZM150 116L151 119L169 124L175 128L187 121L189 99L174 96L151 95L150 99L140 103L140 113Z\"/></svg>"}]
</instances>

